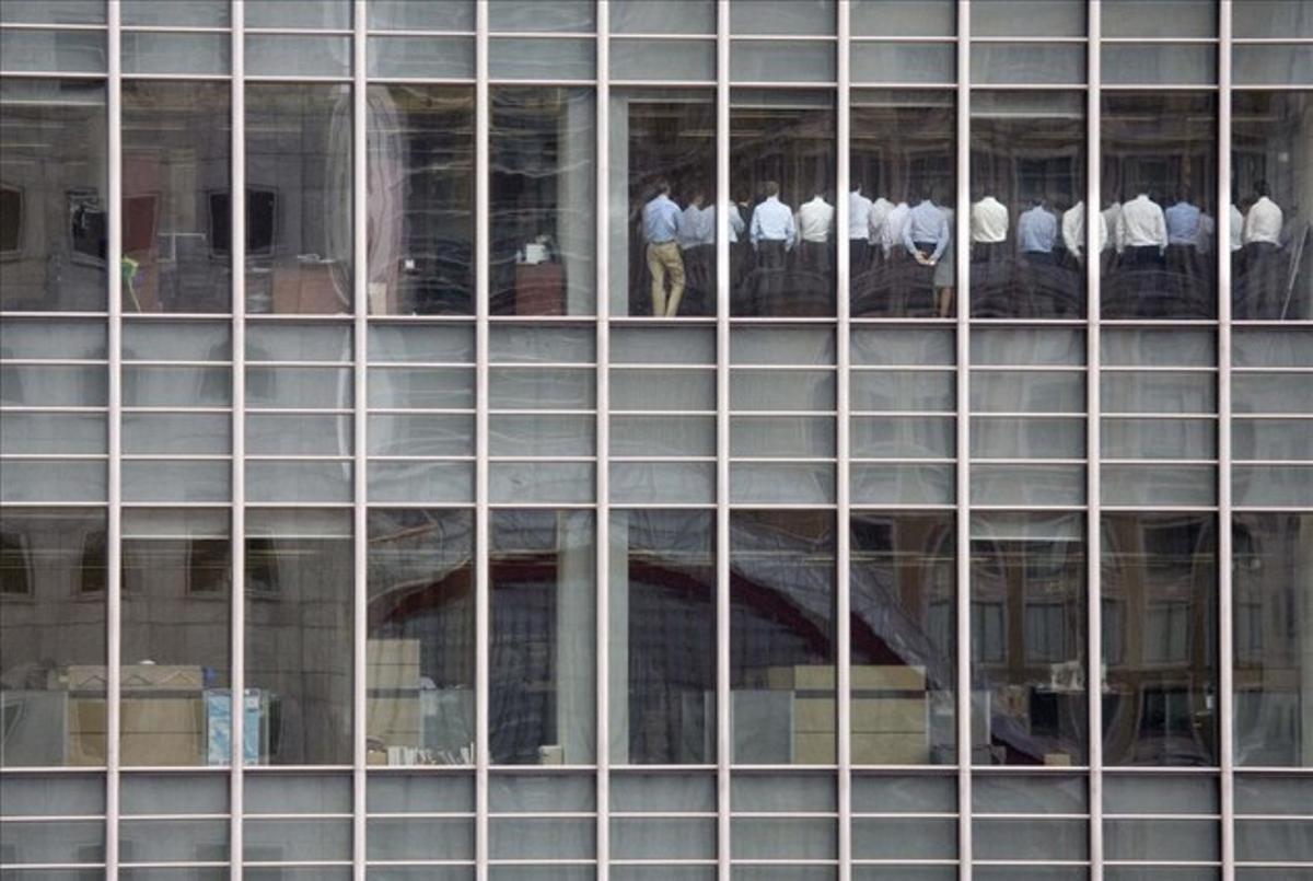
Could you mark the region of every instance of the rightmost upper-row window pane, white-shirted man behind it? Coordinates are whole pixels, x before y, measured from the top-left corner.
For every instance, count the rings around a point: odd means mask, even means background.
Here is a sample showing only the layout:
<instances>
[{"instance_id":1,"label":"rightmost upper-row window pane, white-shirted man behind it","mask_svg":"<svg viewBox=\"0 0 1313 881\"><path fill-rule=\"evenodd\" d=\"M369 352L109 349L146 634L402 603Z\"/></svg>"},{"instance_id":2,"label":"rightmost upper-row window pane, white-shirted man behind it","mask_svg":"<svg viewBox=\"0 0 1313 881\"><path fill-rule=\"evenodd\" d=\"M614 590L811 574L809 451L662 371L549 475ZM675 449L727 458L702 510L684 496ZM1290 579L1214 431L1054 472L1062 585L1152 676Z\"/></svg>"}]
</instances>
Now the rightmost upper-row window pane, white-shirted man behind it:
<instances>
[{"instance_id":1,"label":"rightmost upper-row window pane, white-shirted man behind it","mask_svg":"<svg viewBox=\"0 0 1313 881\"><path fill-rule=\"evenodd\" d=\"M1313 177L1313 92L1236 92L1230 206L1236 318L1313 318L1313 259L1300 196Z\"/></svg>"}]
</instances>

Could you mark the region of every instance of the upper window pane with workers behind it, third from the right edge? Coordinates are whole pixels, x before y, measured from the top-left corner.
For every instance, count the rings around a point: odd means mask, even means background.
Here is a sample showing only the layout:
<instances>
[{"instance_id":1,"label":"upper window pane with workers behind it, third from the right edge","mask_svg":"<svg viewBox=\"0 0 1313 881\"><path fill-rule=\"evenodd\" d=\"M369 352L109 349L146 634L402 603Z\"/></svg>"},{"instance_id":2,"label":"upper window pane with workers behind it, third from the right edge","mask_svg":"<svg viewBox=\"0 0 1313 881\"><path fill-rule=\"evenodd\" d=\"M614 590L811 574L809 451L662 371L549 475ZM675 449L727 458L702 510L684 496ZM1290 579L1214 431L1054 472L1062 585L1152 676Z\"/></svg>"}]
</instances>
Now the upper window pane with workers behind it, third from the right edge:
<instances>
[{"instance_id":1,"label":"upper window pane with workers behind it, third from the right edge","mask_svg":"<svg viewBox=\"0 0 1313 881\"><path fill-rule=\"evenodd\" d=\"M1082 79L1083 79L1082 74ZM1085 315L1085 96L972 98L972 314ZM1102 235L1100 242L1107 236Z\"/></svg>"}]
</instances>

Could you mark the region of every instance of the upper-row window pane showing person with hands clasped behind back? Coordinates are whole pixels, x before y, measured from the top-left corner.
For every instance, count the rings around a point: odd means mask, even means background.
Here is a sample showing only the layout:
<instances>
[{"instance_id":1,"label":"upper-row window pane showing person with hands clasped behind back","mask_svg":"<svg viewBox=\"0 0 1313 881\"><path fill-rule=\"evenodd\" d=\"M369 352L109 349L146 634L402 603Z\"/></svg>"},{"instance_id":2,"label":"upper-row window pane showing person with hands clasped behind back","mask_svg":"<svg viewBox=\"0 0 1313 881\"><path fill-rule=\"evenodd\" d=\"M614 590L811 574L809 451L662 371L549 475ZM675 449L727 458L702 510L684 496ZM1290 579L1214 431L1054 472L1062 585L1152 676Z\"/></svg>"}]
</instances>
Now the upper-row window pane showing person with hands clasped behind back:
<instances>
[{"instance_id":1,"label":"upper-row window pane showing person with hands clasped behind back","mask_svg":"<svg viewBox=\"0 0 1313 881\"><path fill-rule=\"evenodd\" d=\"M952 92L853 93L848 295L855 316L953 314L955 105ZM930 256L939 252L934 268L916 260L916 239L907 244L911 206L922 238L932 239ZM935 206L941 225L927 223Z\"/></svg>"}]
</instances>

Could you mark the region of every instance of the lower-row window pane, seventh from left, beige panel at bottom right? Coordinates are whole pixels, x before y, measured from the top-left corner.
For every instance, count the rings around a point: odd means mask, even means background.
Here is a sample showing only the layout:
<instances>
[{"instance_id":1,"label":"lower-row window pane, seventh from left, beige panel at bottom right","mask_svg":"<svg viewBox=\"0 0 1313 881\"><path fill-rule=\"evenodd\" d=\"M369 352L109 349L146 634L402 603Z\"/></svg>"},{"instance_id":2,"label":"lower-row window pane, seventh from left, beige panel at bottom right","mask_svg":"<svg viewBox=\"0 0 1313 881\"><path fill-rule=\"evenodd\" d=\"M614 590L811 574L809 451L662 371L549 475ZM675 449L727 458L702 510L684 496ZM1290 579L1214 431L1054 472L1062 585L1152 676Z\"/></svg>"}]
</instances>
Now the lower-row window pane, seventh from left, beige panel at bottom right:
<instances>
[{"instance_id":1,"label":"lower-row window pane, seventh from left, beige panel at bottom right","mask_svg":"<svg viewBox=\"0 0 1313 881\"><path fill-rule=\"evenodd\" d=\"M737 764L835 760L834 515L730 516L730 688Z\"/></svg>"}]
</instances>

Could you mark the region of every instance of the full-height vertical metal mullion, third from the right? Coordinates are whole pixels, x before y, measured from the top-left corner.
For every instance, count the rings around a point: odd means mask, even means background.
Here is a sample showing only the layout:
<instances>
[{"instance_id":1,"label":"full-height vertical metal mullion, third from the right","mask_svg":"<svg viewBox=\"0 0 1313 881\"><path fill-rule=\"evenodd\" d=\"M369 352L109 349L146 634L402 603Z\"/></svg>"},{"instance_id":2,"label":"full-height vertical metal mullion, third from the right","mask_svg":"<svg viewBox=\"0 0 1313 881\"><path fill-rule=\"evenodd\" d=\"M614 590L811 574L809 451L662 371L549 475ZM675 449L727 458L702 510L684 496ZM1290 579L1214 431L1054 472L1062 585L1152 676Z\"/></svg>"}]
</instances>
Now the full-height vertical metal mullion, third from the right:
<instances>
[{"instance_id":1,"label":"full-height vertical metal mullion, third from the right","mask_svg":"<svg viewBox=\"0 0 1313 881\"><path fill-rule=\"evenodd\" d=\"M957 877L972 877L970 0L957 3Z\"/></svg>"}]
</instances>

